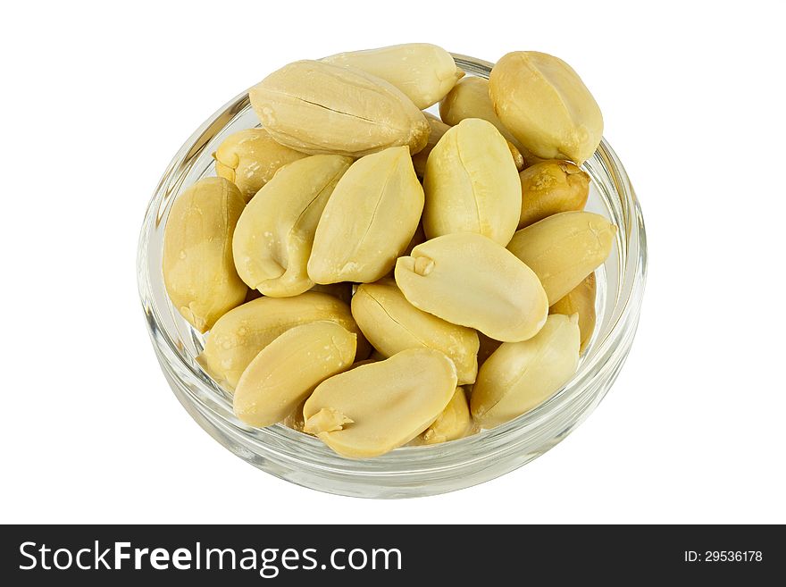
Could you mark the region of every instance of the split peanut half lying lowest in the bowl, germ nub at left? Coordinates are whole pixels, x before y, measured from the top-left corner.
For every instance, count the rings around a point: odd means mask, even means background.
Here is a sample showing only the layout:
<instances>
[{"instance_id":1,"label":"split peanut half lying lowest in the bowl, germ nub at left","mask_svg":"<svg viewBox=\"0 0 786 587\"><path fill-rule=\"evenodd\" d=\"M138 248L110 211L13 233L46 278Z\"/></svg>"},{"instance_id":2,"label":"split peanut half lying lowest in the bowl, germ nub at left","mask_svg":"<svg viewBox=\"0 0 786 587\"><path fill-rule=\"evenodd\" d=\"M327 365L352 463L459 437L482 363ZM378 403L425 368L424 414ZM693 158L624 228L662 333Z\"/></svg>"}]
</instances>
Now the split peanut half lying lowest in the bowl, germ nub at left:
<instances>
[{"instance_id":1,"label":"split peanut half lying lowest in the bowl, germ nub at left","mask_svg":"<svg viewBox=\"0 0 786 587\"><path fill-rule=\"evenodd\" d=\"M322 382L305 402L304 431L344 457L377 457L428 428L455 390L453 361L410 348Z\"/></svg>"}]
</instances>

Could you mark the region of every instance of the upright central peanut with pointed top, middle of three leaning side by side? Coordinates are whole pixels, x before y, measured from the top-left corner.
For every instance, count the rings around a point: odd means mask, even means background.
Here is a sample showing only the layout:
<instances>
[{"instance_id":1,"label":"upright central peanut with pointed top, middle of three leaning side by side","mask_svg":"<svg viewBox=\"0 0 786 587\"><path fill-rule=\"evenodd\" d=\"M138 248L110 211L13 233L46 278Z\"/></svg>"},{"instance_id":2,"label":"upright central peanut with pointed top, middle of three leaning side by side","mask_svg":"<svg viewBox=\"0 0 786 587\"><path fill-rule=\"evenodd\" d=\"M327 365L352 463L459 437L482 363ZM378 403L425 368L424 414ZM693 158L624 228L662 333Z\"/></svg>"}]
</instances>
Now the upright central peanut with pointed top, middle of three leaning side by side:
<instances>
[{"instance_id":1,"label":"upright central peanut with pointed top, middle of three leaning side by side","mask_svg":"<svg viewBox=\"0 0 786 587\"><path fill-rule=\"evenodd\" d=\"M358 159L322 212L308 276L316 283L377 281L412 239L422 209L423 189L406 147Z\"/></svg>"}]
</instances>

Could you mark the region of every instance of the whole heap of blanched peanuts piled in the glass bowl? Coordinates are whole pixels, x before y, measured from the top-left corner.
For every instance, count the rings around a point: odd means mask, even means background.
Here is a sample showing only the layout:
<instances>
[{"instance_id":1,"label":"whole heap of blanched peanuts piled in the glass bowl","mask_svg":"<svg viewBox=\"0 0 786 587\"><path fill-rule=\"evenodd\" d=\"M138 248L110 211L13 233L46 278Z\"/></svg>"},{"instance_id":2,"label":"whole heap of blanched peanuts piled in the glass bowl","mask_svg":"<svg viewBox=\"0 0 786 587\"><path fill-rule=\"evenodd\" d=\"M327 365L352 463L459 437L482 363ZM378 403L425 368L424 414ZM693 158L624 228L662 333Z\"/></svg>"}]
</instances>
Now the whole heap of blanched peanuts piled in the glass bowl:
<instances>
[{"instance_id":1,"label":"whole heap of blanched peanuts piled in the glass bowl","mask_svg":"<svg viewBox=\"0 0 786 587\"><path fill-rule=\"evenodd\" d=\"M616 228L583 211L603 122L569 66L517 52L483 80L410 44L290 63L249 97L261 128L223 139L163 248L242 422L376 457L571 379Z\"/></svg>"}]
</instances>

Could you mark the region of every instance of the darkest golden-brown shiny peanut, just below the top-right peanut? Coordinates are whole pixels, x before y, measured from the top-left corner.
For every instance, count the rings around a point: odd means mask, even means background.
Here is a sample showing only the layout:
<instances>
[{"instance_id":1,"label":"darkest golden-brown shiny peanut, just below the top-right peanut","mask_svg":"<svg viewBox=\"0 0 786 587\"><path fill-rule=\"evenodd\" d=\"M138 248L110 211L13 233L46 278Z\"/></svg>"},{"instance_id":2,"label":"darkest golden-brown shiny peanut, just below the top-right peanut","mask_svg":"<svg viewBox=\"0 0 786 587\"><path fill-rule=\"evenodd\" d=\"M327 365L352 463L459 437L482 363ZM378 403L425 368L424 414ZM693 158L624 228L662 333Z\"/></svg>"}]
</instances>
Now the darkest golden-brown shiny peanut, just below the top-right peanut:
<instances>
[{"instance_id":1,"label":"darkest golden-brown shiny peanut, just below the top-right peanut","mask_svg":"<svg viewBox=\"0 0 786 587\"><path fill-rule=\"evenodd\" d=\"M581 210L590 195L590 176L568 161L544 161L519 173L522 215L519 228L552 214Z\"/></svg>"}]
</instances>

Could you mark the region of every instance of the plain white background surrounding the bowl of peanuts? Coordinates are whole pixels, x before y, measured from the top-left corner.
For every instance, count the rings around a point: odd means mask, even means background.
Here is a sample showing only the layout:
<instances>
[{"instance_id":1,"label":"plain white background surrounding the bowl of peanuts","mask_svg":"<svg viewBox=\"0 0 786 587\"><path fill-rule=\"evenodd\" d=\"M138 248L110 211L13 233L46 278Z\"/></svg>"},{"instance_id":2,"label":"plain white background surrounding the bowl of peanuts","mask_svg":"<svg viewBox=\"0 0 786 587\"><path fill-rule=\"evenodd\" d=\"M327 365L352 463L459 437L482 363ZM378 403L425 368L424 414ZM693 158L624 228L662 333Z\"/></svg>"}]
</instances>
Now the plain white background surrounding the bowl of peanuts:
<instances>
[{"instance_id":1,"label":"plain white background surrounding the bowl of peanuts","mask_svg":"<svg viewBox=\"0 0 786 587\"><path fill-rule=\"evenodd\" d=\"M783 6L5 6L0 521L786 522ZM640 196L647 294L614 389L546 456L444 496L339 498L233 457L180 407L138 302L138 230L231 96L407 41L579 71Z\"/></svg>"}]
</instances>

